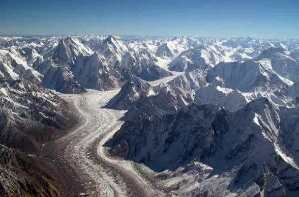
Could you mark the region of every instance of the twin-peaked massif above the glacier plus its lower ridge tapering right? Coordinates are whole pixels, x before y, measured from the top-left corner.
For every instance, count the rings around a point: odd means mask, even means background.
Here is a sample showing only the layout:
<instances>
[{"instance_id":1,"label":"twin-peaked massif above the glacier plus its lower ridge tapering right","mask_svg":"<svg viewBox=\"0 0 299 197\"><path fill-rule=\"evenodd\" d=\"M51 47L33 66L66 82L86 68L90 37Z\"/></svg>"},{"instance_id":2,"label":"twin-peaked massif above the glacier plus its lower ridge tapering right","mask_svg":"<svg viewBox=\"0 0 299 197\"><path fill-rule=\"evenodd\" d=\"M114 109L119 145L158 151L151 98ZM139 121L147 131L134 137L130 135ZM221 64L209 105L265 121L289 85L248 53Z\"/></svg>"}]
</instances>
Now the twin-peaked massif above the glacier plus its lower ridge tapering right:
<instances>
[{"instance_id":1,"label":"twin-peaked massif above the glacier plus its lower ridge tapering right","mask_svg":"<svg viewBox=\"0 0 299 197\"><path fill-rule=\"evenodd\" d=\"M129 72L149 81L172 75L155 65L149 52L129 52L114 36L102 40L97 51L93 53L72 37L61 38L44 58L34 62L33 68L44 75L42 85L64 93L119 88Z\"/></svg>"}]
</instances>

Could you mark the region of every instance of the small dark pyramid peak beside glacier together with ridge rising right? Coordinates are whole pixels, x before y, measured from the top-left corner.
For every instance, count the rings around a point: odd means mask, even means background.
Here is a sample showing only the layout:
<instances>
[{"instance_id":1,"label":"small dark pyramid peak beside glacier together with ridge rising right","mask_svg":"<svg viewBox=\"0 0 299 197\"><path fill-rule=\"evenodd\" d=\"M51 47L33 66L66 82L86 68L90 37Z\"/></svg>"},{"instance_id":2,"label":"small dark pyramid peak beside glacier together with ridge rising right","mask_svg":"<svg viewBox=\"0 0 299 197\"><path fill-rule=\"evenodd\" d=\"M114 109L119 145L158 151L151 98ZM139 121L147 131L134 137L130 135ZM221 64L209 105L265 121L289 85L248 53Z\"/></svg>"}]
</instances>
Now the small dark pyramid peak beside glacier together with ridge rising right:
<instances>
[{"instance_id":1,"label":"small dark pyramid peak beside glacier together with ridge rising right","mask_svg":"<svg viewBox=\"0 0 299 197\"><path fill-rule=\"evenodd\" d=\"M122 86L120 92L106 107L128 110L126 118L133 119L139 115L152 116L175 112L193 101L193 91L206 86L206 74L204 69L197 69L177 76L167 84L156 86L132 78Z\"/></svg>"}]
</instances>

